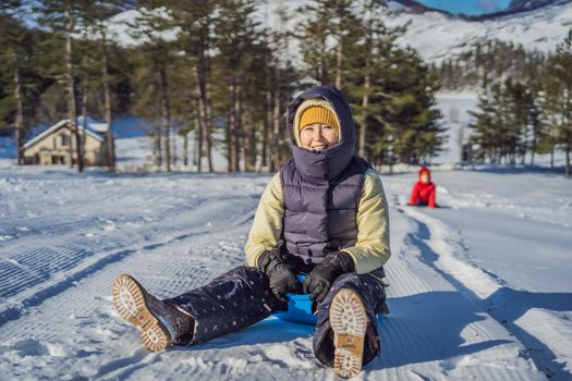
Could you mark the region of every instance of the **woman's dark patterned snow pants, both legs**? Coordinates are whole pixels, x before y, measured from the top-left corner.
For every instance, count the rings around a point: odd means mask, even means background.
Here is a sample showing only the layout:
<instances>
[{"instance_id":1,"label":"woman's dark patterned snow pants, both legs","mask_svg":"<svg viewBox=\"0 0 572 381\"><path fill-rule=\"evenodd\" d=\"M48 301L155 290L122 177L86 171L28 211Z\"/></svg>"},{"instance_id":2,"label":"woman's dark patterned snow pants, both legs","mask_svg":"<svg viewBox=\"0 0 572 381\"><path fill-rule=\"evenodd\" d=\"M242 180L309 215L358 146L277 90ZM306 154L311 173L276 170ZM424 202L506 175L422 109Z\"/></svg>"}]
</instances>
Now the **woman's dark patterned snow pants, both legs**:
<instances>
[{"instance_id":1,"label":"woman's dark patterned snow pants, both legs","mask_svg":"<svg viewBox=\"0 0 572 381\"><path fill-rule=\"evenodd\" d=\"M333 364L333 332L329 307L341 288L352 288L362 298L368 317L364 346L364 365L378 356L379 334L376 315L385 308L384 268L366 274L345 273L338 278L316 309L314 353L325 365ZM204 343L261 321L287 310L287 304L272 294L268 276L255 267L239 267L214 279L209 284L163 300L177 306L195 320L194 331L178 342L181 345Z\"/></svg>"}]
</instances>

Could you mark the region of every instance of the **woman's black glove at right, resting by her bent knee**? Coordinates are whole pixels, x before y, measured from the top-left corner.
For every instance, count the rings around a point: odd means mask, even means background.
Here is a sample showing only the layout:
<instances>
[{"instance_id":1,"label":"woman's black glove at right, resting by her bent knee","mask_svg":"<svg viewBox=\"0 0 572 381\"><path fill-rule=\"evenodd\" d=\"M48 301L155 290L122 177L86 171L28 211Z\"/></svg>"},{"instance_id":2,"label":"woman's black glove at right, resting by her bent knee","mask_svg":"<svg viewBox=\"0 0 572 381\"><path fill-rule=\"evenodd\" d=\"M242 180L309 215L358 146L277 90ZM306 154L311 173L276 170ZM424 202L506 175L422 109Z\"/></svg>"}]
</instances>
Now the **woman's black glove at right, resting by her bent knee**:
<instances>
[{"instance_id":1,"label":"woman's black glove at right, resting by her bent knee","mask_svg":"<svg viewBox=\"0 0 572 381\"><path fill-rule=\"evenodd\" d=\"M304 281L304 293L309 298L320 303L324 300L332 283L343 273L354 272L355 266L348 253L334 251L328 254L324 261L309 272Z\"/></svg>"}]
</instances>

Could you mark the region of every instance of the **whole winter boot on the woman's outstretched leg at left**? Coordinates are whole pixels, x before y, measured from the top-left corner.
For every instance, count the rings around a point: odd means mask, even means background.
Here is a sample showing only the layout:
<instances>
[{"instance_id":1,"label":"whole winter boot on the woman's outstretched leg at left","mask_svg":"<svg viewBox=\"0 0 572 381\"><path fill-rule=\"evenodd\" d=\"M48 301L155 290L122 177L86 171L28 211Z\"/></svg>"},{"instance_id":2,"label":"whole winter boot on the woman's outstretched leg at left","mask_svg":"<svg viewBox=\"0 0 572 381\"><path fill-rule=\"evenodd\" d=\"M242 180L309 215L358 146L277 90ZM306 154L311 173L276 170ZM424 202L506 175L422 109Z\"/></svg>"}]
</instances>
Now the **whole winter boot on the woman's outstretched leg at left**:
<instances>
[{"instance_id":1,"label":"whole winter boot on the woman's outstretched leg at left","mask_svg":"<svg viewBox=\"0 0 572 381\"><path fill-rule=\"evenodd\" d=\"M149 351L162 351L193 329L188 315L150 295L127 274L115 278L112 295L115 310L141 330L141 342Z\"/></svg>"}]
</instances>

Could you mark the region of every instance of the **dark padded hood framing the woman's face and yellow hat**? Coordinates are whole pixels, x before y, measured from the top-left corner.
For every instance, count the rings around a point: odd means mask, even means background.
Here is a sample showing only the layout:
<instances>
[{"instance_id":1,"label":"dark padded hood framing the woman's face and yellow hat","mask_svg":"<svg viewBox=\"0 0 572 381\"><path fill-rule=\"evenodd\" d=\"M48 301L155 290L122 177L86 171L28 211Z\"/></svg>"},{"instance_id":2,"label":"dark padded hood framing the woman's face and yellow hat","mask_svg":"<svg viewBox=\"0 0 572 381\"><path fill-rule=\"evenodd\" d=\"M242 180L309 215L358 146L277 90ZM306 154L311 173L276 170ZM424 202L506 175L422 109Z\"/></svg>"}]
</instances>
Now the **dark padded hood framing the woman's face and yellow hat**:
<instances>
[{"instance_id":1,"label":"dark padded hood framing the woman's face and yellow hat","mask_svg":"<svg viewBox=\"0 0 572 381\"><path fill-rule=\"evenodd\" d=\"M340 143L322 151L313 151L296 146L294 116L303 101L325 99L331 103L340 121ZM292 147L292 158L301 175L311 182L329 181L338 176L350 164L355 147L355 125L350 102L338 88L331 85L312 87L295 97L287 109L287 127Z\"/></svg>"}]
</instances>

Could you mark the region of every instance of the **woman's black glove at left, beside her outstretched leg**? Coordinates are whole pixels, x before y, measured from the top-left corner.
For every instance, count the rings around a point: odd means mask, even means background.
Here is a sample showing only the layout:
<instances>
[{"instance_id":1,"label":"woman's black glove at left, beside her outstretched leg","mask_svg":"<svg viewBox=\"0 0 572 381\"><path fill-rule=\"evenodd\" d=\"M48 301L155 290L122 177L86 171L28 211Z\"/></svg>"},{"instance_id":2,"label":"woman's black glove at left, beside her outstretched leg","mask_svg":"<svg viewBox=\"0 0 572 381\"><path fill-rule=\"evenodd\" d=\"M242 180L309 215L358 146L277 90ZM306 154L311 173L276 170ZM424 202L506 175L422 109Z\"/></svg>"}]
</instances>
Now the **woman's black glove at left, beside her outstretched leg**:
<instances>
[{"instance_id":1,"label":"woman's black glove at left, beside her outstretched leg","mask_svg":"<svg viewBox=\"0 0 572 381\"><path fill-rule=\"evenodd\" d=\"M256 265L268 275L270 288L278 299L288 303L287 293L302 293L302 284L296 276L296 262L288 254L281 254L276 248L265 251L258 257Z\"/></svg>"}]
</instances>

